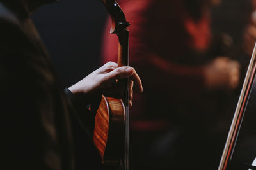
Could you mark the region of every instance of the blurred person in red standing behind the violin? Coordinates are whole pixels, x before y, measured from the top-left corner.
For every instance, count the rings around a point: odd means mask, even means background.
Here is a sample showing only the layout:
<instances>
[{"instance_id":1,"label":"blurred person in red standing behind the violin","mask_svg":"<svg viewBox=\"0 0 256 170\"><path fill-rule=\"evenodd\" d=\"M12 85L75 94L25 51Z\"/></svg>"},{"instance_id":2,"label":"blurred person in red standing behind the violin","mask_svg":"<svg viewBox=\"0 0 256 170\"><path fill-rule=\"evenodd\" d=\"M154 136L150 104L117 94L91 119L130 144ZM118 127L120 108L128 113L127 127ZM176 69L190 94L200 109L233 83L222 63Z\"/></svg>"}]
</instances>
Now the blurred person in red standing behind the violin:
<instances>
[{"instance_id":1,"label":"blurred person in red standing behind the violin","mask_svg":"<svg viewBox=\"0 0 256 170\"><path fill-rule=\"evenodd\" d=\"M212 33L211 8L221 1L118 2L145 90L131 109L132 169L216 169L244 74L232 37ZM104 62L117 59L109 27Z\"/></svg>"}]
</instances>

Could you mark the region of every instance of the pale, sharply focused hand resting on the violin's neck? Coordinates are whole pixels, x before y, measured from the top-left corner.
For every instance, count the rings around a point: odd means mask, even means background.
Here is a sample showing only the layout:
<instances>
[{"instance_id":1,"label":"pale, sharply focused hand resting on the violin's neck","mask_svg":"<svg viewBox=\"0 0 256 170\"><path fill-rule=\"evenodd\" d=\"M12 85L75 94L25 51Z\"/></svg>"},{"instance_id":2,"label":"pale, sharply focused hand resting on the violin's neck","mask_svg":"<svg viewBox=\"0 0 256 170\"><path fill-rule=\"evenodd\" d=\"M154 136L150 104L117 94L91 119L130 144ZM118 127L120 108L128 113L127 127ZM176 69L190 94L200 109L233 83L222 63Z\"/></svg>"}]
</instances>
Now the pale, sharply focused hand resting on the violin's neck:
<instances>
[{"instance_id":1,"label":"pale, sharply focused hand resting on the violin's neck","mask_svg":"<svg viewBox=\"0 0 256 170\"><path fill-rule=\"evenodd\" d=\"M116 82L118 80L129 79L129 105L132 105L132 92L133 86L139 91L143 91L140 77L132 67L117 67L115 62L108 62L99 69L93 71L86 76L83 80L79 81L75 85L72 85L68 89L74 93L83 94L96 94L97 92L105 91L107 94L115 96L115 93L119 93L116 88Z\"/></svg>"}]
</instances>

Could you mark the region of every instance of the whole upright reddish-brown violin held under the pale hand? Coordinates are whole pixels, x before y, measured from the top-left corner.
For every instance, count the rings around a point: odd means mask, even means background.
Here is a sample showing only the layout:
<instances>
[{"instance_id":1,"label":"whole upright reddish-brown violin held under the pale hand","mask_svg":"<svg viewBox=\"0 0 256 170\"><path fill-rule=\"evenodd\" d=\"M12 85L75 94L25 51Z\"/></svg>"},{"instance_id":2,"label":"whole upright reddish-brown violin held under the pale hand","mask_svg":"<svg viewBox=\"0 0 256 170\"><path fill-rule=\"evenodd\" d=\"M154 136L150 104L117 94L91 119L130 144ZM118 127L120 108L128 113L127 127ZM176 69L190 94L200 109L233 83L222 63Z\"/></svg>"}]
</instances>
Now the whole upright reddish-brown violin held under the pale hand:
<instances>
[{"instance_id":1,"label":"whole upright reddish-brown violin held under the pale hand","mask_svg":"<svg viewBox=\"0 0 256 170\"><path fill-rule=\"evenodd\" d=\"M111 34L118 36L118 67L129 65L129 31L124 12L115 0L102 0L112 18ZM117 98L102 96L95 116L93 143L102 163L129 169L129 90L128 79L118 80L122 94Z\"/></svg>"}]
</instances>

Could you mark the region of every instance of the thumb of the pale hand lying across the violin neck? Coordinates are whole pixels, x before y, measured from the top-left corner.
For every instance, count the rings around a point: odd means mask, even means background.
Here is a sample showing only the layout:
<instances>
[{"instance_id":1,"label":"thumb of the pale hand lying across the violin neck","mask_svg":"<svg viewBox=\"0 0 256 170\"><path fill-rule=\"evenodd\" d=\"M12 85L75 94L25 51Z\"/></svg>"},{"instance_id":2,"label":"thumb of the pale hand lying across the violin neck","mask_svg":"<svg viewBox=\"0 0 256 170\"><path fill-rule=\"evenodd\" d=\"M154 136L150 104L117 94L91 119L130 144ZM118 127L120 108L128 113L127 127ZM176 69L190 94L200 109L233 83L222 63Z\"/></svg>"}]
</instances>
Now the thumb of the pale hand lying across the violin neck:
<instances>
[{"instance_id":1,"label":"thumb of the pale hand lying across the violin neck","mask_svg":"<svg viewBox=\"0 0 256 170\"><path fill-rule=\"evenodd\" d=\"M113 69L113 71L109 72L106 77L109 79L122 79L122 78L129 78L134 74L134 69L129 66L118 67Z\"/></svg>"}]
</instances>

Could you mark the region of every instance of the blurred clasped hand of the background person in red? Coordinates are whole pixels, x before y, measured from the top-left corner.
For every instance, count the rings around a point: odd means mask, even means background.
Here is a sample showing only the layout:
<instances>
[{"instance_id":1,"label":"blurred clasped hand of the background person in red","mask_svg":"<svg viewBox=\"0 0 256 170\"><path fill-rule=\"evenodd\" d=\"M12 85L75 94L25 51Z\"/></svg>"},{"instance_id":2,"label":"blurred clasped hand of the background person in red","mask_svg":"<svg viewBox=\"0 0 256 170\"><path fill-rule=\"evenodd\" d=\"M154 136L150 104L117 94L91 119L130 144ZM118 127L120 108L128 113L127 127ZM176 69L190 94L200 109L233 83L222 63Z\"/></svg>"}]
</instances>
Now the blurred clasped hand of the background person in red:
<instances>
[{"instance_id":1,"label":"blurred clasped hand of the background person in red","mask_svg":"<svg viewBox=\"0 0 256 170\"><path fill-rule=\"evenodd\" d=\"M234 89L239 85L240 64L228 57L217 57L205 66L205 85L210 89Z\"/></svg>"}]
</instances>

